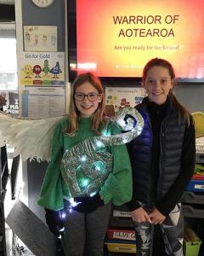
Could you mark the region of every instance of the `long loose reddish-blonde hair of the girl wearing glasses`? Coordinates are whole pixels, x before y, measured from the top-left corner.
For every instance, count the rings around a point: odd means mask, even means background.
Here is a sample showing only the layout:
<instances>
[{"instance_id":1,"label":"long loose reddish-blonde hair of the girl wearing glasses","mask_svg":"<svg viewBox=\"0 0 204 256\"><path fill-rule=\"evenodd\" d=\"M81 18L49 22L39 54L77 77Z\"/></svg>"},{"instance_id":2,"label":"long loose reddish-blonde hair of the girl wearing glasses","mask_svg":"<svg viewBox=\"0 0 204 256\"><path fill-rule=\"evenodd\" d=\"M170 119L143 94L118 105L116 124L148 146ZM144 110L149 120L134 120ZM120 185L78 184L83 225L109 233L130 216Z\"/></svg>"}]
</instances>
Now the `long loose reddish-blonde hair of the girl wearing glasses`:
<instances>
[{"instance_id":1,"label":"long loose reddish-blonde hair of the girl wearing glasses","mask_svg":"<svg viewBox=\"0 0 204 256\"><path fill-rule=\"evenodd\" d=\"M98 90L99 94L101 94L101 102L99 102L99 106L93 114L92 117L92 130L96 134L100 134L99 126L105 125L105 96L104 90L100 80L94 76L93 73L82 73L77 76L74 80L73 84L71 84L71 102L70 102L70 110L69 110L69 125L67 127L67 134L73 136L78 129L78 122L80 119L80 114L75 105L74 94L76 89L84 84L90 83L94 86L96 90Z\"/></svg>"}]
</instances>

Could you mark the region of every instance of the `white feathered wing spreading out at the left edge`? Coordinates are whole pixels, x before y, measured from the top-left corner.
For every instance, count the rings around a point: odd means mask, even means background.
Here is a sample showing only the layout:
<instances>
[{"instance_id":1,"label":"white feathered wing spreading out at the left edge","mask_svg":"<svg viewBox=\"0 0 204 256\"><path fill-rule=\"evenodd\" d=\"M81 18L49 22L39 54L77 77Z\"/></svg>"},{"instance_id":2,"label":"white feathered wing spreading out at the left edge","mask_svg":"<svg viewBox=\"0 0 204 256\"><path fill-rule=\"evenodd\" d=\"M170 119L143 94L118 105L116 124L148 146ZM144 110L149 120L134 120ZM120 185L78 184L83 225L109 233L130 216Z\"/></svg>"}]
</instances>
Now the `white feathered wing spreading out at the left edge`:
<instances>
[{"instance_id":1,"label":"white feathered wing spreading out at the left edge","mask_svg":"<svg viewBox=\"0 0 204 256\"><path fill-rule=\"evenodd\" d=\"M0 112L0 146L8 143L22 160L49 161L54 128L63 118L19 119Z\"/></svg>"}]
</instances>

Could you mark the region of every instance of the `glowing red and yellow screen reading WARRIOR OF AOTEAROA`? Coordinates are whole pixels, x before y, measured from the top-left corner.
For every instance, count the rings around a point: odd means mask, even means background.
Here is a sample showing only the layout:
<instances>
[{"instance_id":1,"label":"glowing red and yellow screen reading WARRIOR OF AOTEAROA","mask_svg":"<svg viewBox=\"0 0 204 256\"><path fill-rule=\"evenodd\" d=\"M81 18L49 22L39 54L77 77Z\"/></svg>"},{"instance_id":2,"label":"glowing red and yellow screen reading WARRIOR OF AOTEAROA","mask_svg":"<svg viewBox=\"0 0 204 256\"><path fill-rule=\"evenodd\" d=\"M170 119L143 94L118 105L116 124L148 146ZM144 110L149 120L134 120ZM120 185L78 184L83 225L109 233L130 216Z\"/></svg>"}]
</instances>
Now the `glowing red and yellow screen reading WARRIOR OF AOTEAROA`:
<instances>
[{"instance_id":1,"label":"glowing red and yellow screen reading WARRIOR OF AOTEAROA","mask_svg":"<svg viewBox=\"0 0 204 256\"><path fill-rule=\"evenodd\" d=\"M141 77L151 58L204 78L203 0L77 0L77 72Z\"/></svg>"}]
</instances>

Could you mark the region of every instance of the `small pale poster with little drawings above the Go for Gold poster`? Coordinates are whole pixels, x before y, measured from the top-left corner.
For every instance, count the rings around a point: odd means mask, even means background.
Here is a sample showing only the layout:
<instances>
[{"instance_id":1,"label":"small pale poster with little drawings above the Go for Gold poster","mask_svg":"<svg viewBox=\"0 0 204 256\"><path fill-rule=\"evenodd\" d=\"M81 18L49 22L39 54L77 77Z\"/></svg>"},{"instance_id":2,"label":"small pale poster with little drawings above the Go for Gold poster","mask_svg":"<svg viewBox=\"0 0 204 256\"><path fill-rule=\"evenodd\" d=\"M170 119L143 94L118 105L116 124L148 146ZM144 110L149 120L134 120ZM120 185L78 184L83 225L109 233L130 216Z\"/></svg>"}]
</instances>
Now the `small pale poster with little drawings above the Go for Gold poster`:
<instances>
[{"instance_id":1,"label":"small pale poster with little drawings above the Go for Gold poster","mask_svg":"<svg viewBox=\"0 0 204 256\"><path fill-rule=\"evenodd\" d=\"M57 26L24 26L25 51L57 51Z\"/></svg>"}]
</instances>

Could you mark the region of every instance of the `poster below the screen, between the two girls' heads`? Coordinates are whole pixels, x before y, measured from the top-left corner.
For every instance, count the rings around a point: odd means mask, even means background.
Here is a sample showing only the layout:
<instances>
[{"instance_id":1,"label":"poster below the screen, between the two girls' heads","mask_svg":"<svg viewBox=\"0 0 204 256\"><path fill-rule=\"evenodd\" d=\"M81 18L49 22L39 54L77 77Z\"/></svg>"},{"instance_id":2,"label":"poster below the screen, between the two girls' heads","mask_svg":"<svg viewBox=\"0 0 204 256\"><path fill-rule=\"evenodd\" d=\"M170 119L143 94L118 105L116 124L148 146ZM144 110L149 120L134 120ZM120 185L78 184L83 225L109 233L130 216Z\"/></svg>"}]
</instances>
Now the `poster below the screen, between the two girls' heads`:
<instances>
[{"instance_id":1,"label":"poster below the screen, between the two girls' heads","mask_svg":"<svg viewBox=\"0 0 204 256\"><path fill-rule=\"evenodd\" d=\"M144 98L141 87L105 87L105 105L113 105L115 112L126 106L134 107Z\"/></svg>"}]
</instances>

